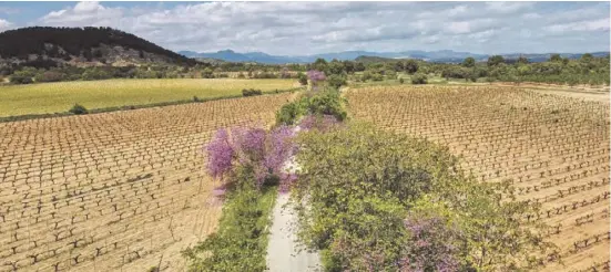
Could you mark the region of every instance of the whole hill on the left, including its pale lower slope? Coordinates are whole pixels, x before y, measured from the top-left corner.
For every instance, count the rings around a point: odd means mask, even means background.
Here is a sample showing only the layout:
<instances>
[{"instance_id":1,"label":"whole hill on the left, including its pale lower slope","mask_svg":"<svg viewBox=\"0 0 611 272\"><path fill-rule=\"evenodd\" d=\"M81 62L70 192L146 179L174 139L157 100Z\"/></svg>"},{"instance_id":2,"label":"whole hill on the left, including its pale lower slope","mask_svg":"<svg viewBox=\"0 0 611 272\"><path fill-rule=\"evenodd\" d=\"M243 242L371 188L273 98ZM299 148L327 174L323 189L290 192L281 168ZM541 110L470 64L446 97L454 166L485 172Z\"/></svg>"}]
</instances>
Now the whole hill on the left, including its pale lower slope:
<instances>
[{"instance_id":1,"label":"whole hill on the left, including its pale lower slope","mask_svg":"<svg viewBox=\"0 0 611 272\"><path fill-rule=\"evenodd\" d=\"M0 33L0 65L126 66L142 63L194 65L196 61L111 28L31 27Z\"/></svg>"}]
</instances>

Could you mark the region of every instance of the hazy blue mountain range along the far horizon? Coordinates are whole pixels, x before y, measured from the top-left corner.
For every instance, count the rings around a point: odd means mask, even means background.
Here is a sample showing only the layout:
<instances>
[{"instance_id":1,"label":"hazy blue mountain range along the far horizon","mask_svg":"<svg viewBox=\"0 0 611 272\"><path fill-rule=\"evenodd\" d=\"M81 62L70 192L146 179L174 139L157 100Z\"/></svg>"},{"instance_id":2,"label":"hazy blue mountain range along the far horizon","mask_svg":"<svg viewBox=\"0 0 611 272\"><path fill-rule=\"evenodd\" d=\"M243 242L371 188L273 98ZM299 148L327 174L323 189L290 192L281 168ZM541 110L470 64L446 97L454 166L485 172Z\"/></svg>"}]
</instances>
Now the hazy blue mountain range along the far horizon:
<instances>
[{"instance_id":1,"label":"hazy blue mountain range along the far horizon","mask_svg":"<svg viewBox=\"0 0 611 272\"><path fill-rule=\"evenodd\" d=\"M439 50L439 51L421 51L411 50L404 52L369 52L369 51L344 51L336 53L314 54L314 55L271 55L263 52L248 52L238 53L233 50L222 50L214 53L197 53L193 51L179 51L179 54L194 59L216 59L227 62L257 62L268 64L284 64L284 63L310 63L316 59L322 57L327 61L333 59L339 61L354 61L358 56L378 56L385 59L419 59L430 62L462 62L465 57L472 56L476 61L486 61L490 55L488 54L473 54L469 52L456 52L452 50ZM531 62L542 62L550 57L552 53L546 54L502 54L506 59L518 59L520 55L526 56ZM578 59L583 53L561 53L560 55L569 59ZM605 56L609 52L593 52L594 56Z\"/></svg>"}]
</instances>

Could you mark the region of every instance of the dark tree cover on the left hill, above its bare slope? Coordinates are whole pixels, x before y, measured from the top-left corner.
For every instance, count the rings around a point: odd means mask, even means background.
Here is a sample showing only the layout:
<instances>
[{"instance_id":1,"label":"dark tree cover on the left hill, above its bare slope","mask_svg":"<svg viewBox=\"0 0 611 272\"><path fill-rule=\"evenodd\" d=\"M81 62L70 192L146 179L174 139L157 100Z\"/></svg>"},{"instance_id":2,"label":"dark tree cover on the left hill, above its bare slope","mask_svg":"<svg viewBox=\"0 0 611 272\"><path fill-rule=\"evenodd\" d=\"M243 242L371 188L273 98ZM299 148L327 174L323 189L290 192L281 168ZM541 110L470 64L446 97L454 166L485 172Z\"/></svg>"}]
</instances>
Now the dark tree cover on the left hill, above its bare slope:
<instances>
[{"instance_id":1,"label":"dark tree cover on the left hill, above its bare slope","mask_svg":"<svg viewBox=\"0 0 611 272\"><path fill-rule=\"evenodd\" d=\"M194 64L195 61L163 49L136 35L111 28L52 28L31 27L0 33L0 57L27 60L30 54L49 57L91 57L101 44L123 46L170 57L176 63Z\"/></svg>"}]
</instances>

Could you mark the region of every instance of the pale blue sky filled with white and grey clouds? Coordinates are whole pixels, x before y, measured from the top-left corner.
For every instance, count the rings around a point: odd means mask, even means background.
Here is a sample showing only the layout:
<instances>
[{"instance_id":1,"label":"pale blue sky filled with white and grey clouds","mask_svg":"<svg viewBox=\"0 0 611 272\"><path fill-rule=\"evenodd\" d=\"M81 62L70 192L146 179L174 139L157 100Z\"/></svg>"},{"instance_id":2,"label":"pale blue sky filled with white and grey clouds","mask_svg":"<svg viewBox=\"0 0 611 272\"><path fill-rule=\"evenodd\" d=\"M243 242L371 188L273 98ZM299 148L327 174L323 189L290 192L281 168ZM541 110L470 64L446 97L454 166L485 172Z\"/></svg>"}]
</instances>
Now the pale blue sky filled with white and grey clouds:
<instances>
[{"instance_id":1,"label":"pale blue sky filled with white and grey clouds","mask_svg":"<svg viewBox=\"0 0 611 272\"><path fill-rule=\"evenodd\" d=\"M0 31L111 27L173 51L609 51L609 2L1 2Z\"/></svg>"}]
</instances>

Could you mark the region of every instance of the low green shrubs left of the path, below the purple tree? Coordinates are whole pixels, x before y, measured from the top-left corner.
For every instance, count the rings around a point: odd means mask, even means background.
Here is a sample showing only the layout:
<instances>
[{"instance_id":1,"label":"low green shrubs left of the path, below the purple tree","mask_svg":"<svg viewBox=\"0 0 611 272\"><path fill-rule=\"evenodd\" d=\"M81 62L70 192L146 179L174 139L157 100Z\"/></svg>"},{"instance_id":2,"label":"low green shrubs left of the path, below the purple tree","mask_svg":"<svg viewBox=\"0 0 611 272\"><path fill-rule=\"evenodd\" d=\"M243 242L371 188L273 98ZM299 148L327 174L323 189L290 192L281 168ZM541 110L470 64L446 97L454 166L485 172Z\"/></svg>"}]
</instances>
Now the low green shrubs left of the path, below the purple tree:
<instances>
[{"instance_id":1,"label":"low green shrubs left of the path, below the purple tree","mask_svg":"<svg viewBox=\"0 0 611 272\"><path fill-rule=\"evenodd\" d=\"M254 176L243 169L235 179L241 186L228 192L218 231L183 251L191 271L264 271L266 229L277 196L276 187L254 187ZM250 185L250 186L248 186Z\"/></svg>"}]
</instances>

